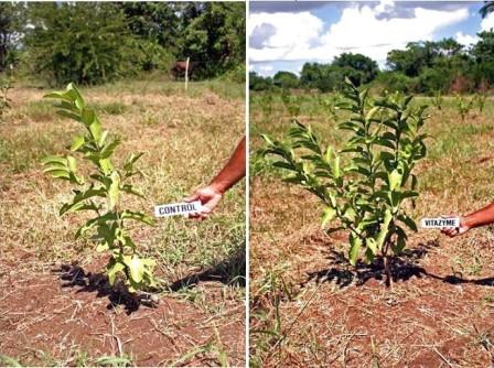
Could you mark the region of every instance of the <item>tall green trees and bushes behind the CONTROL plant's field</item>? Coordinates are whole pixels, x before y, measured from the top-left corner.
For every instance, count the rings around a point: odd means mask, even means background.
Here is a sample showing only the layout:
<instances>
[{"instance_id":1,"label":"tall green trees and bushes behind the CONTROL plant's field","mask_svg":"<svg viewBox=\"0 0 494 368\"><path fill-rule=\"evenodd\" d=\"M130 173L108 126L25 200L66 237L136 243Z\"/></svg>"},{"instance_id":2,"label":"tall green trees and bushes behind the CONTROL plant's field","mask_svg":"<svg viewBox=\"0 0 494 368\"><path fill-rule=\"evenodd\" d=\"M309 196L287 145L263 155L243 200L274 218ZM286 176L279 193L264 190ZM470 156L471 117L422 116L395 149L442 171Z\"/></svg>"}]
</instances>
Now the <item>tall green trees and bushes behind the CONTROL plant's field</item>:
<instances>
[{"instance_id":1,"label":"tall green trees and bushes behind the CONTROL plant's field","mask_svg":"<svg viewBox=\"0 0 494 368\"><path fill-rule=\"evenodd\" d=\"M191 57L194 76L245 71L238 2L0 2L0 73L100 84Z\"/></svg>"}]
</instances>

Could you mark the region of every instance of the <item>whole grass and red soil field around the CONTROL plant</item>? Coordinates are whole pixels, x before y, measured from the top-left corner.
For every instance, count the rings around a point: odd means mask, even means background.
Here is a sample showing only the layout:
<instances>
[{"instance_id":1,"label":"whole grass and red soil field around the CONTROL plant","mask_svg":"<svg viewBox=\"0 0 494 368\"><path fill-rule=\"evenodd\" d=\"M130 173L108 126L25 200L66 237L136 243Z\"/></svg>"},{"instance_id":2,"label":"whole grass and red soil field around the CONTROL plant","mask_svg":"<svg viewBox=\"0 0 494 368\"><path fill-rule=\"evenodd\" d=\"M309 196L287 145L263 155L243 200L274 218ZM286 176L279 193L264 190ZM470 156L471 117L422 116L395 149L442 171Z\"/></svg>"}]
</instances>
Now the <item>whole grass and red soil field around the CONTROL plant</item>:
<instances>
[{"instance_id":1,"label":"whole grass and red soil field around the CONTROL plant","mask_svg":"<svg viewBox=\"0 0 494 368\"><path fill-rule=\"evenodd\" d=\"M213 178L243 137L244 85L189 88L154 79L82 89L104 128L122 138L117 156L146 152L136 182L147 199L127 197L124 206L151 214L182 199ZM106 259L88 240L73 240L84 219L58 216L69 186L42 173L40 160L63 153L79 130L54 113L45 93L15 84L0 123L0 365L244 365L244 183L203 223L136 225L165 288L157 309L115 305L108 290L54 272L77 262L95 274Z\"/></svg>"}]
</instances>

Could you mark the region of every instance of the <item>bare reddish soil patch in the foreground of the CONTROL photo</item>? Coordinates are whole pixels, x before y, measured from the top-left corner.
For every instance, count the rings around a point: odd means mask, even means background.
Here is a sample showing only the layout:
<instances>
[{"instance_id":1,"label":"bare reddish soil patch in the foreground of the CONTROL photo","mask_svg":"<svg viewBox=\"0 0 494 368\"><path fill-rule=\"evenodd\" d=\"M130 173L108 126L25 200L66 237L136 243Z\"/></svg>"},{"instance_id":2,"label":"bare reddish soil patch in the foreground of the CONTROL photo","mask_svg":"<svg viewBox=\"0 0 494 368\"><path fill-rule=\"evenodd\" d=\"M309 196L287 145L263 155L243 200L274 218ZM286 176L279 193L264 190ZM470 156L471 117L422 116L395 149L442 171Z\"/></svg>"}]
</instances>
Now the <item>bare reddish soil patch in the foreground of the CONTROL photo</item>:
<instances>
[{"instance_id":1,"label":"bare reddish soil patch in the foreground of the CONTROL photo","mask_svg":"<svg viewBox=\"0 0 494 368\"><path fill-rule=\"evenodd\" d=\"M40 364L40 350L62 357L72 348L93 357L125 354L137 366L161 366L214 343L232 365L243 364L245 323L235 307L213 321L191 303L161 295L154 307L129 311L127 303L98 288L67 282L68 273L18 272L6 263L0 269L2 354ZM94 274L98 269L93 268ZM184 362L214 365L216 358L197 354Z\"/></svg>"}]
</instances>

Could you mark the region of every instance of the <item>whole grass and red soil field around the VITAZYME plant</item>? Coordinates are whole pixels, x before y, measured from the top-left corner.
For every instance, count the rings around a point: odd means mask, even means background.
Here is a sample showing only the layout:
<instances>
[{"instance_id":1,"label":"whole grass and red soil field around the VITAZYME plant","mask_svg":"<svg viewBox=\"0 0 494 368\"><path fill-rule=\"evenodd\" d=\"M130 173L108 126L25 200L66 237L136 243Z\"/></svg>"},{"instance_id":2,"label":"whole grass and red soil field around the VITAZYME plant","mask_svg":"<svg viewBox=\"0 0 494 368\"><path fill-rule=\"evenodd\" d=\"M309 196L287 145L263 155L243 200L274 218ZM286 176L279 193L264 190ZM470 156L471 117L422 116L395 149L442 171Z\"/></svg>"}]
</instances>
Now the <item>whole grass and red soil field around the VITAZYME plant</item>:
<instances>
[{"instance_id":1,"label":"whole grass and red soil field around the VITAZYME plant","mask_svg":"<svg viewBox=\"0 0 494 368\"><path fill-rule=\"evenodd\" d=\"M343 131L320 102L301 95L299 120L325 143ZM266 102L271 98L272 102ZM393 290L380 271L342 262L345 232L320 229L315 196L280 181L256 153L260 133L290 126L279 96L250 96L250 355L253 367L486 367L494 358L494 234L449 239L410 236ZM426 97L417 104L430 104ZM493 201L494 100L461 121L454 99L429 108L428 155L418 166L412 217L464 214ZM337 120L340 120L339 118Z\"/></svg>"}]
</instances>

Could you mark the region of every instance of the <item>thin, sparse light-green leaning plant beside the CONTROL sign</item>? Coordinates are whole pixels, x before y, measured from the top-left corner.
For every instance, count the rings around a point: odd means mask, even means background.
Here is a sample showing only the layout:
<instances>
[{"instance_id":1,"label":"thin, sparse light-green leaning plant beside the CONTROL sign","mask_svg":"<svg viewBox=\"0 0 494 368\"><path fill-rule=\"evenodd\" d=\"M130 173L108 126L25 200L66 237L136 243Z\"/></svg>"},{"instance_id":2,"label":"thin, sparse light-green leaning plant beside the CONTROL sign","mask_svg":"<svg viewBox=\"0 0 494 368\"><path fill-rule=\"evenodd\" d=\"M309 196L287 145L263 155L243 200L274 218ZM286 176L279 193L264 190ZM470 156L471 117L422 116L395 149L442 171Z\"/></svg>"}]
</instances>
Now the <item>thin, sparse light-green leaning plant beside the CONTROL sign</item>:
<instances>
[{"instance_id":1,"label":"thin, sparse light-green leaning plant beside the CONTROL sign","mask_svg":"<svg viewBox=\"0 0 494 368\"><path fill-rule=\"evenodd\" d=\"M77 171L77 160L71 154L47 156L43 160L45 173L74 185L72 202L62 206L61 216L80 210L94 213L95 217L87 220L75 237L77 239L93 232L92 239L97 245L96 250L109 252L107 274L111 285L115 284L117 275L124 275L131 293L154 286L154 261L138 256L137 246L127 230L129 220L152 225L153 219L119 206L119 198L124 193L143 197L139 188L128 183L130 177L139 173L133 165L142 153L131 153L122 167L117 169L112 156L120 140L109 139L108 131L103 131L94 109L86 106L77 88L69 84L66 90L45 97L58 100L55 105L58 115L82 123L85 131L74 138L69 150L78 153L92 166L89 175L84 177Z\"/></svg>"}]
</instances>

